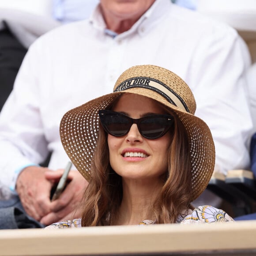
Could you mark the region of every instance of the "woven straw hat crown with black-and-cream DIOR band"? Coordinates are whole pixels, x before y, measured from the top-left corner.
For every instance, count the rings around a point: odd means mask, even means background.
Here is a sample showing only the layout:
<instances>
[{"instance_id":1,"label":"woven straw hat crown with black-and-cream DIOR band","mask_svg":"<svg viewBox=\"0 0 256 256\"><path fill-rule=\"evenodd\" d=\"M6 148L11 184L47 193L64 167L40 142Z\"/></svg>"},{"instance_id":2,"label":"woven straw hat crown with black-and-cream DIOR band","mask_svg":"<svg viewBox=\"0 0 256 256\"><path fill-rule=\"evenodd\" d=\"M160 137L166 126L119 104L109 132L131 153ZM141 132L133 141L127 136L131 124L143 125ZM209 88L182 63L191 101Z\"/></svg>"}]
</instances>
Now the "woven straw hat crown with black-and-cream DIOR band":
<instances>
[{"instance_id":1,"label":"woven straw hat crown with black-and-cream DIOR band","mask_svg":"<svg viewBox=\"0 0 256 256\"><path fill-rule=\"evenodd\" d=\"M138 87L157 92L163 104L168 101L188 113L194 114L196 111L196 101L188 85L178 75L165 68L154 65L129 68L117 79L113 91Z\"/></svg>"}]
</instances>

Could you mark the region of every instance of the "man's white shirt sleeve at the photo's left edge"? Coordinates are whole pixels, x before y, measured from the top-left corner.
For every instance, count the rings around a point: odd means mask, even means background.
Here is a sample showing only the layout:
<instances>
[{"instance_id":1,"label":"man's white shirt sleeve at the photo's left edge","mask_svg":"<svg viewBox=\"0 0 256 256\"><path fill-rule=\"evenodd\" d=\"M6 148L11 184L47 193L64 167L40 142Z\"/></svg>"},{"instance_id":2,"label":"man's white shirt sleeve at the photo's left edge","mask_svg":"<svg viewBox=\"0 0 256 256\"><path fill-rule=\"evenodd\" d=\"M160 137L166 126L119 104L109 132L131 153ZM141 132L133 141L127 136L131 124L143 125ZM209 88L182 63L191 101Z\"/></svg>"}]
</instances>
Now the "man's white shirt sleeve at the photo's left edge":
<instances>
[{"instance_id":1,"label":"man's white shirt sleeve at the photo's left edge","mask_svg":"<svg viewBox=\"0 0 256 256\"><path fill-rule=\"evenodd\" d=\"M48 154L39 107L36 68L39 61L34 47L31 47L0 113L1 182L11 189L15 188L24 166L39 164Z\"/></svg>"}]
</instances>

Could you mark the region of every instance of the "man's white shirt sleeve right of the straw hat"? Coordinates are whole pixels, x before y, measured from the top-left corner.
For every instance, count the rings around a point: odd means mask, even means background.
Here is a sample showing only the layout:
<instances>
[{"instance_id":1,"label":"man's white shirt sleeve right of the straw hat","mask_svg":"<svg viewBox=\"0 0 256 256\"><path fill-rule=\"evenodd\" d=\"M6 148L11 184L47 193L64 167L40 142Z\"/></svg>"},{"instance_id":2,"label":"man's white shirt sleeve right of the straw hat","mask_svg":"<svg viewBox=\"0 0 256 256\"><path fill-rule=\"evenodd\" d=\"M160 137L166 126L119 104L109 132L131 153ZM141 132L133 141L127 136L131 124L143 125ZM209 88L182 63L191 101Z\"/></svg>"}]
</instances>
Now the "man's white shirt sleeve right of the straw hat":
<instances>
[{"instance_id":1,"label":"man's white shirt sleeve right of the straw hat","mask_svg":"<svg viewBox=\"0 0 256 256\"><path fill-rule=\"evenodd\" d=\"M220 25L209 26L202 34L188 80L196 98L196 116L211 128L216 169L226 174L249 165L252 118L246 72L251 60L237 32Z\"/></svg>"}]
</instances>

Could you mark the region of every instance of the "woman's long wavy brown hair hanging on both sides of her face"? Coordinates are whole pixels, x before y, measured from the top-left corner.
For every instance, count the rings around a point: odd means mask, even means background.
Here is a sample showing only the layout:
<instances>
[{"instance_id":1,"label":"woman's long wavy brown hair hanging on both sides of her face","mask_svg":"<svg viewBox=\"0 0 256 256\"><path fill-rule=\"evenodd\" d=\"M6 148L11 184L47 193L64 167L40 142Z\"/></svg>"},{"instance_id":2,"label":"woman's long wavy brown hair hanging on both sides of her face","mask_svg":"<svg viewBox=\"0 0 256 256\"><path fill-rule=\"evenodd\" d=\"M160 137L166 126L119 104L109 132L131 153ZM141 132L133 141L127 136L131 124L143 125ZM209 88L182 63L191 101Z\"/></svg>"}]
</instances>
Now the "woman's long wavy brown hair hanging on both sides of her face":
<instances>
[{"instance_id":1,"label":"woman's long wavy brown hair hanging on both sides of her face","mask_svg":"<svg viewBox=\"0 0 256 256\"><path fill-rule=\"evenodd\" d=\"M192 208L190 142L179 117L169 109L166 111L173 115L174 125L170 129L172 140L164 185L152 206L154 221L158 224L175 223L182 211ZM91 181L84 194L82 226L113 225L122 197L122 177L110 166L107 134L99 124L98 143L91 163Z\"/></svg>"}]
</instances>

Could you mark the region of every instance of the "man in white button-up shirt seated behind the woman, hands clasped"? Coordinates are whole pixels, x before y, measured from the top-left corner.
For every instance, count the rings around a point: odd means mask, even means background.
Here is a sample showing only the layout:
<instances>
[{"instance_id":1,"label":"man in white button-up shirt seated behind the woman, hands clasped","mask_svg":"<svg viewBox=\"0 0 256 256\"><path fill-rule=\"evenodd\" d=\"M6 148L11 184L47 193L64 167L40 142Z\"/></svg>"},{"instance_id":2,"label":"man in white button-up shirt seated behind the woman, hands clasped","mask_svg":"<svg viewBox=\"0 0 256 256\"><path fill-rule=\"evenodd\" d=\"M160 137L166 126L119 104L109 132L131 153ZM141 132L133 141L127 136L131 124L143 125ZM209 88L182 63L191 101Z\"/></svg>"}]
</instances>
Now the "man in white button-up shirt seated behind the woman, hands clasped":
<instances>
[{"instance_id":1,"label":"man in white button-up shirt seated behind the woman, hands clasped","mask_svg":"<svg viewBox=\"0 0 256 256\"><path fill-rule=\"evenodd\" d=\"M218 171L248 166L250 58L237 32L169 0L101 0L90 19L50 31L25 56L0 115L0 182L9 202L18 194L26 213L45 225L79 217L73 209L86 184L74 169L60 198L49 199L63 173L56 169L68 162L60 119L111 92L118 76L138 64L167 68L191 87L196 115L215 140ZM49 169L38 166L49 151Z\"/></svg>"}]
</instances>

